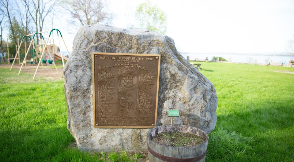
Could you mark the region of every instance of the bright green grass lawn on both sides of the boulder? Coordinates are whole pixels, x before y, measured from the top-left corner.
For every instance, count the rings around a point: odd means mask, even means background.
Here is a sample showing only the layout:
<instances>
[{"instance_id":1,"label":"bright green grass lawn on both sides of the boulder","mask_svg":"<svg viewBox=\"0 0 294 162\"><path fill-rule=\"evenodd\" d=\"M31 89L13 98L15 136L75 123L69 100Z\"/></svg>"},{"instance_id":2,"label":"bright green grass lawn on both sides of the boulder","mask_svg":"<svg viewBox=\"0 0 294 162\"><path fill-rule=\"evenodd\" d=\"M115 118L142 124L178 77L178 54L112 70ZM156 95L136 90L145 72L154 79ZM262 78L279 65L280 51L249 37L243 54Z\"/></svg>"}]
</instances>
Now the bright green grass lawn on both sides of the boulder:
<instances>
[{"instance_id":1,"label":"bright green grass lawn on both sides of the boulder","mask_svg":"<svg viewBox=\"0 0 294 162\"><path fill-rule=\"evenodd\" d=\"M191 62L192 63L192 62ZM219 99L206 161L294 161L294 68L201 62ZM52 69L54 70L54 69ZM9 73L9 74L8 74ZM17 77L21 80L17 80ZM63 81L0 66L0 161L129 161L69 147ZM129 157L130 156L130 157Z\"/></svg>"}]
</instances>

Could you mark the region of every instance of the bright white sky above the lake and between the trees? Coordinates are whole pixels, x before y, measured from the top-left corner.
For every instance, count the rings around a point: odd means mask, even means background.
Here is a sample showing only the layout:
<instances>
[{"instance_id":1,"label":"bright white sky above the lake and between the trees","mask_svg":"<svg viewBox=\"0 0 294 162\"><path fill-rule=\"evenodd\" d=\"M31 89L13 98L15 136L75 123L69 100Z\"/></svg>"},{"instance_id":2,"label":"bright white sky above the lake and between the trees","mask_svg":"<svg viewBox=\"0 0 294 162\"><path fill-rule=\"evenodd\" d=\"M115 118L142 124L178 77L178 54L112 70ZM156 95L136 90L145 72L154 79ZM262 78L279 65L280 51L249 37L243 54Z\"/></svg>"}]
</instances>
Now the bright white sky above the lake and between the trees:
<instances>
[{"instance_id":1,"label":"bright white sky above the lake and between the trees","mask_svg":"<svg viewBox=\"0 0 294 162\"><path fill-rule=\"evenodd\" d=\"M136 24L135 12L143 0L110 0L115 18L111 26ZM167 36L180 52L194 53L281 53L294 39L293 0L151 0L167 16ZM78 28L68 24L69 15L58 13L58 28L69 51ZM62 48L64 46L62 45Z\"/></svg>"}]
</instances>

